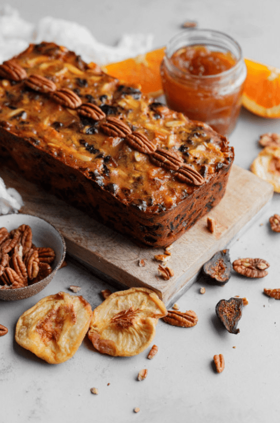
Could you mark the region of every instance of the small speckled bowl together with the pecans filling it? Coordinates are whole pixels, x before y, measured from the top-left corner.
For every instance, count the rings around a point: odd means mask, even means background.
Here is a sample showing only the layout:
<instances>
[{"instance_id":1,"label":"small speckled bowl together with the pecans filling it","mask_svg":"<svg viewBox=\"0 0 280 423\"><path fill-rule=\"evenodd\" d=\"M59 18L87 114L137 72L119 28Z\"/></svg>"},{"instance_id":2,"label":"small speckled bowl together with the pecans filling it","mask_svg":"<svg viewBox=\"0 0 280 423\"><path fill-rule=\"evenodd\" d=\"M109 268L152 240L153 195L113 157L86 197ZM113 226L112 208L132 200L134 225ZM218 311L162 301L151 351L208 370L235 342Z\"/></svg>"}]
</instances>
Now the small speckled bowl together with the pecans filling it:
<instances>
[{"instance_id":1,"label":"small speckled bowl together with the pecans filling it","mask_svg":"<svg viewBox=\"0 0 280 423\"><path fill-rule=\"evenodd\" d=\"M44 219L24 214L0 216L0 299L23 299L40 292L65 254L63 236Z\"/></svg>"}]
</instances>

